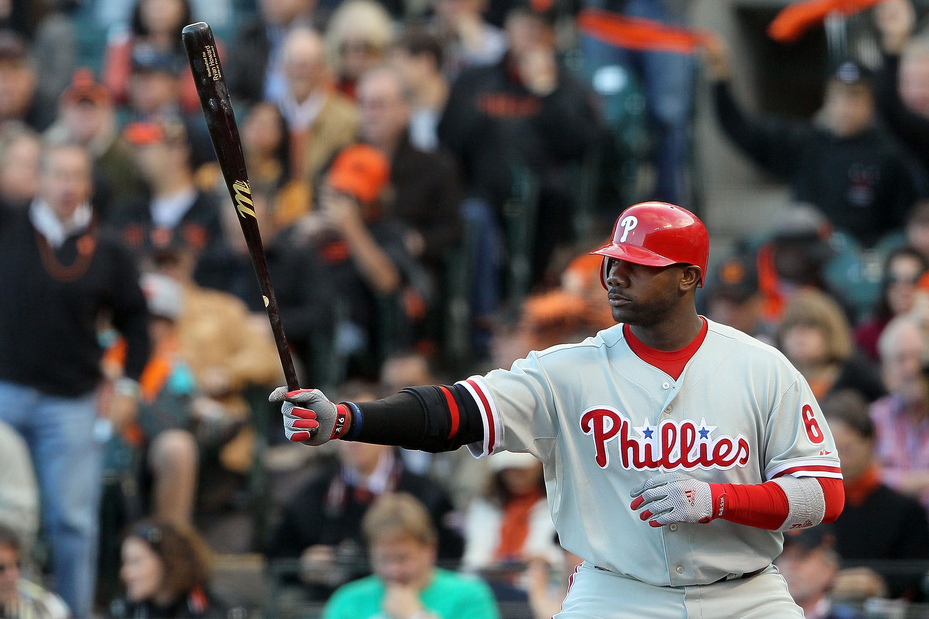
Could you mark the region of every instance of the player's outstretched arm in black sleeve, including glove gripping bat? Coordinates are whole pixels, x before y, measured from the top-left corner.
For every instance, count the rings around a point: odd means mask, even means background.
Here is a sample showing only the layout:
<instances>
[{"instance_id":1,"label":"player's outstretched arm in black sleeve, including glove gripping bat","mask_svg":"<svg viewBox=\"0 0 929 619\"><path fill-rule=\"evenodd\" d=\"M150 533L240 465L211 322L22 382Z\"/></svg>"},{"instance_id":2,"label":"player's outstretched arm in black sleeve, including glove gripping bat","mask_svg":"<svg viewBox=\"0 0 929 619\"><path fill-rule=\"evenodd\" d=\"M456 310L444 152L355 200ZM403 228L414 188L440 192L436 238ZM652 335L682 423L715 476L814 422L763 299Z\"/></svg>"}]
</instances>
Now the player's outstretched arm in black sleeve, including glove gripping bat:
<instances>
[{"instance_id":1,"label":"player's outstretched arm in black sleeve, including glove gripping bat","mask_svg":"<svg viewBox=\"0 0 929 619\"><path fill-rule=\"evenodd\" d=\"M375 402L331 402L319 389L274 389L287 439L321 445L334 439L399 445L426 452L453 451L482 441L484 421L461 385L403 389Z\"/></svg>"}]
</instances>

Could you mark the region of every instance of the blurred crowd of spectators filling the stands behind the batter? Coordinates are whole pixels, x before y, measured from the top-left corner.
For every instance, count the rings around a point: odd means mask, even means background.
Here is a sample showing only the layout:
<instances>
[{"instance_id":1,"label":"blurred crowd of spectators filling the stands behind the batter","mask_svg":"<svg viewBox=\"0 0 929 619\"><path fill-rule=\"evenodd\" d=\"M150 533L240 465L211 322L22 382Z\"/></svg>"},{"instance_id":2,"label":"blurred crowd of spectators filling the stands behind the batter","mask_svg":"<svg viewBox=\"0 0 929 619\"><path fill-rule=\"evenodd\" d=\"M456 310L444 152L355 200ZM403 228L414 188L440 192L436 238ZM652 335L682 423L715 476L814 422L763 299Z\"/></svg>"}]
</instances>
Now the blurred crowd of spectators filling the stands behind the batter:
<instances>
[{"instance_id":1,"label":"blurred crowd of spectators filling the stands behind the batter","mask_svg":"<svg viewBox=\"0 0 929 619\"><path fill-rule=\"evenodd\" d=\"M340 401L611 326L586 252L635 202L697 208L705 83L792 202L714 256L701 311L805 375L843 463L843 515L789 536L781 573L817 619L929 599L922 9L858 16L873 53L830 49L797 120L739 100L712 33L624 47L590 8L687 27L686 0L0 0L0 617L257 616L211 569L261 553L268 616L541 618L581 560L529 454L284 439L181 46L199 19L300 382Z\"/></svg>"}]
</instances>

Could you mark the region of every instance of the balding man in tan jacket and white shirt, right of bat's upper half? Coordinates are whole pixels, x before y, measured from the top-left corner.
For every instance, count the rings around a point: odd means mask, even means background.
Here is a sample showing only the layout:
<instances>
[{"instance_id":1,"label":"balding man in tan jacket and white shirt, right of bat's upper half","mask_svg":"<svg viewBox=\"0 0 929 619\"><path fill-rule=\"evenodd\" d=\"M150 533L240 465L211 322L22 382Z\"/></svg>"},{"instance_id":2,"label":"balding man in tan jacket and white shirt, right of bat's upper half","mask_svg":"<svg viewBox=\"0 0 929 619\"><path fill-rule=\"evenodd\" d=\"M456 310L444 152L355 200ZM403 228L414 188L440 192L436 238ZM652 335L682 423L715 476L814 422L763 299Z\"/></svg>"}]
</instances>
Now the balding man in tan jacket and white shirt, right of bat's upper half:
<instances>
[{"instance_id":1,"label":"balding man in tan jacket and white shirt, right of bat's upper half","mask_svg":"<svg viewBox=\"0 0 929 619\"><path fill-rule=\"evenodd\" d=\"M293 176L312 187L334 154L356 140L358 110L335 91L318 33L294 29L282 55L287 91L276 102L291 131Z\"/></svg>"}]
</instances>

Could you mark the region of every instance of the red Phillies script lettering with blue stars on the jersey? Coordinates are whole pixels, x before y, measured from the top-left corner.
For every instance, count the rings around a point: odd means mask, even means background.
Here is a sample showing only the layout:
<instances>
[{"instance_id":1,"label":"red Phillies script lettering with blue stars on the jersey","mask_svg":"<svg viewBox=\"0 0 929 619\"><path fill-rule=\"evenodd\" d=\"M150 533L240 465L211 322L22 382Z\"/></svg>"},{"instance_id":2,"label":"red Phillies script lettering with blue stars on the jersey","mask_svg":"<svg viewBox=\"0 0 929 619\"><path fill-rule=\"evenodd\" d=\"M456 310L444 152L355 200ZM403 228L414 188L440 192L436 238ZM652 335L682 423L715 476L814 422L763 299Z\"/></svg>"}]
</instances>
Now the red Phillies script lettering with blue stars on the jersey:
<instances>
[{"instance_id":1,"label":"red Phillies script lettering with blue stars on the jersey","mask_svg":"<svg viewBox=\"0 0 929 619\"><path fill-rule=\"evenodd\" d=\"M589 408L581 415L581 431L594 438L596 464L609 466L609 442L620 450L622 468L732 468L749 462L749 441L741 434L733 439L722 435L713 438L715 426L706 420L697 424L685 421L662 421L657 426L633 428L619 411L607 406ZM638 436L636 436L638 435Z\"/></svg>"}]
</instances>

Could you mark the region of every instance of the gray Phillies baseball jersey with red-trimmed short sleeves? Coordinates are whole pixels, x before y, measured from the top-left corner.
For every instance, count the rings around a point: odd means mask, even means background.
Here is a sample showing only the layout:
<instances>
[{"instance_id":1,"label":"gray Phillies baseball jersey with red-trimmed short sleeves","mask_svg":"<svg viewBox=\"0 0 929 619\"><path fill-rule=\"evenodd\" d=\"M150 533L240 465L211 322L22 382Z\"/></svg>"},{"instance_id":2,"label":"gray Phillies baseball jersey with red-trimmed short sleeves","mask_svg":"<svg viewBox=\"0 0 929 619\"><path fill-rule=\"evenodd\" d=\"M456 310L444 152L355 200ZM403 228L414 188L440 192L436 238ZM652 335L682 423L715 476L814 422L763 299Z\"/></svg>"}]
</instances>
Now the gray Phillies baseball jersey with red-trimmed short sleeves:
<instances>
[{"instance_id":1,"label":"gray Phillies baseball jersey with red-trimmed short sleeves","mask_svg":"<svg viewBox=\"0 0 929 619\"><path fill-rule=\"evenodd\" d=\"M777 349L707 323L677 380L639 359L617 324L461 381L485 425L469 448L539 458L561 545L598 567L661 586L765 567L781 533L726 520L652 528L629 507L636 484L674 470L710 483L842 478L804 377Z\"/></svg>"}]
</instances>

